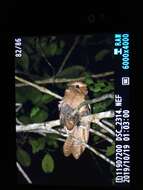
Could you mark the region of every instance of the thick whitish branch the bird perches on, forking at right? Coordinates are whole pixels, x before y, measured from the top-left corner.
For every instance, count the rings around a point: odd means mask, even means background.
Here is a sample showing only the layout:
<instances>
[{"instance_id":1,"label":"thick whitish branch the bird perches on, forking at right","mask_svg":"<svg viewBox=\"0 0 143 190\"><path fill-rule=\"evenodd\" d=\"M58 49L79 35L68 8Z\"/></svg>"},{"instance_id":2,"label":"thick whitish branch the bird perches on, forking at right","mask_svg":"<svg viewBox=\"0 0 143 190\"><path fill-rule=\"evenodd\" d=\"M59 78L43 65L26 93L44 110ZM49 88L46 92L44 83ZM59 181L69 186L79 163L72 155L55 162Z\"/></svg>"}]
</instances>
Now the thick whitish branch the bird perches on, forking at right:
<instances>
[{"instance_id":1,"label":"thick whitish branch the bird perches on, forking at right","mask_svg":"<svg viewBox=\"0 0 143 190\"><path fill-rule=\"evenodd\" d=\"M97 113L97 114L93 114L93 115L89 115L89 116L84 116L82 117L82 119L92 119L92 121L94 122L98 122L99 118L101 119L103 116L105 117L113 117L113 113L112 111L107 111L107 112L102 112L102 113ZM95 119L96 118L96 119ZM104 117L103 117L104 118ZM44 134L44 133L55 133L58 135L61 135L63 137L67 137L68 134L66 133L66 131L62 128L62 129L53 129L53 127L59 126L60 125L60 120L54 120L54 121L49 121L49 122L45 122L45 123L34 123L34 124L29 124L29 125L16 125L16 132L34 132L34 133L39 133L39 134ZM103 128L103 127L102 127ZM104 126L105 128L105 126ZM105 128L108 132L111 133L110 129ZM109 137L107 137L106 135L95 131L93 129L90 129L90 132L104 138L105 140L109 141L109 142L113 142L113 140ZM75 138L75 137L73 137ZM92 148L90 145L81 142L82 144L84 144L90 151L92 151L93 153L95 153L97 156L101 157L103 160L105 160L106 162L110 163L111 165L115 166L115 163L113 161L111 161L109 158L107 158L105 155L99 153L97 150L95 150L94 148Z\"/></svg>"}]
</instances>

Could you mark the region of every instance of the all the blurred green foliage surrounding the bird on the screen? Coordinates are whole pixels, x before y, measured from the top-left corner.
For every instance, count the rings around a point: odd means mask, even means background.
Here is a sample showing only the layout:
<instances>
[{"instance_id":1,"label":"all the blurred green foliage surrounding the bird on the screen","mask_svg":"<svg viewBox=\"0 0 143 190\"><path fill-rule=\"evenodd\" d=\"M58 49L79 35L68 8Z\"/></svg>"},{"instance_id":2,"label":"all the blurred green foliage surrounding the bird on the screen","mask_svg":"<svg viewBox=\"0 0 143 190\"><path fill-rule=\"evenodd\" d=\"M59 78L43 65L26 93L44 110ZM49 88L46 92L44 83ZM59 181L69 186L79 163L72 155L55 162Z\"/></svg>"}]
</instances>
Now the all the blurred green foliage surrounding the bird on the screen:
<instances>
[{"instance_id":1,"label":"all the blurred green foliage surrounding the bird on the screen","mask_svg":"<svg viewBox=\"0 0 143 190\"><path fill-rule=\"evenodd\" d=\"M86 47L90 43L97 45L103 44L103 42L96 42L96 35L86 35L81 37L80 47ZM95 41L95 42L93 42ZM109 40L108 40L109 41ZM69 42L66 38L62 39L61 36L48 36L48 37L25 37L23 40L23 52L22 57L15 59L15 70L19 75L22 73L26 76L26 79L30 80L43 80L51 77L55 77L53 73L57 73L60 68L62 61L64 60L73 40ZM106 41L106 44L107 41ZM99 48L100 49L100 48ZM79 52L76 52L77 54ZM93 55L94 62L101 62L106 59L109 55L110 50L108 47L100 49ZM77 55L76 54L76 55ZM71 54L72 57L72 54ZM85 63L86 65L86 63ZM88 71L88 68L80 62L73 62L71 59L65 64L63 70L56 75L57 78L78 78L85 76L85 82L89 89L90 98L96 98L106 93L114 91L114 84L109 80L97 80L92 78L92 71ZM54 72L53 72L54 70ZM65 83L61 84L48 84L48 88L56 92L66 88ZM22 103L22 108L16 113L16 117L23 124L29 123L40 123L47 121L49 118L55 118L55 98L39 92L38 90L23 86L16 88L15 100L17 103ZM62 94L63 95L63 94ZM57 101L57 100L56 100ZM112 106L113 100L108 99L96 104L93 104L92 113L98 113L108 110ZM51 109L52 108L52 109ZM58 114L57 114L58 115ZM56 118L55 118L56 119ZM112 119L111 119L112 121ZM100 130L100 127L96 124L92 124L92 128L95 130ZM53 155L49 152L59 148L59 143L56 140L58 135L48 134L46 136L35 137L29 135L27 141L23 141L22 137L17 137L21 142L27 143L31 147L32 154L38 154L42 152L44 154L41 160L41 167L45 173L51 173L54 171L54 159ZM92 142L96 146L102 139L92 134ZM18 141L17 141L18 142ZM17 160L26 167L31 165L30 153L24 150L19 145L24 145L24 143L17 143ZM115 152L115 145L106 146L104 145L104 150L106 149L106 155L112 156ZM45 154L46 152L46 154Z\"/></svg>"}]
</instances>

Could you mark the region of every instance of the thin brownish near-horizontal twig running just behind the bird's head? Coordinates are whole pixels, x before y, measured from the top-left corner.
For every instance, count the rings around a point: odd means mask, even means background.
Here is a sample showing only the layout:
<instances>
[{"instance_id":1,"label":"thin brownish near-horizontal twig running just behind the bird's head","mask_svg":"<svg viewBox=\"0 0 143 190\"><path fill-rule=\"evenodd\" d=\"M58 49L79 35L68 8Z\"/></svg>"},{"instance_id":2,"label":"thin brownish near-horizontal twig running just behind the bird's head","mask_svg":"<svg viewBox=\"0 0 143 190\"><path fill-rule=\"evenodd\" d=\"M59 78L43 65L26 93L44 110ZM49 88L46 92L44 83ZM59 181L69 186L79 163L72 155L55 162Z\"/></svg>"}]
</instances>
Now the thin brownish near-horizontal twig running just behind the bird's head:
<instances>
[{"instance_id":1,"label":"thin brownish near-horizontal twig running just behind the bird's head","mask_svg":"<svg viewBox=\"0 0 143 190\"><path fill-rule=\"evenodd\" d=\"M110 75L113 75L114 72L105 72L105 73L100 73L96 75L91 75L92 78L102 78L102 77L107 77ZM78 78L48 78L44 80L35 80L34 83L36 84L50 84L50 83L69 83L69 82L74 82L74 81L84 81L85 76L83 77L78 77ZM23 84L23 83L17 83L16 87L22 87L22 86L27 86L28 84Z\"/></svg>"}]
</instances>

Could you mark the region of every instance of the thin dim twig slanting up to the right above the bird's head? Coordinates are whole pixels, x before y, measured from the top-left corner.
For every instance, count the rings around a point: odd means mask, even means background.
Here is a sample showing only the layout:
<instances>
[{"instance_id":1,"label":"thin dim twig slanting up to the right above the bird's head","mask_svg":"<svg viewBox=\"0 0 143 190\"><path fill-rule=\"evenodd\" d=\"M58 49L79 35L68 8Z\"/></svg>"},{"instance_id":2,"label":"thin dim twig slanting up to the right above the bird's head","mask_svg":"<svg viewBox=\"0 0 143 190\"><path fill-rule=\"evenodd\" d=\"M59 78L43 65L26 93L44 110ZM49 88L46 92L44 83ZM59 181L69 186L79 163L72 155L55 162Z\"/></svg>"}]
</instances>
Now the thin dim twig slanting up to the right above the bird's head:
<instances>
[{"instance_id":1,"label":"thin dim twig slanting up to the right above the bird's head","mask_svg":"<svg viewBox=\"0 0 143 190\"><path fill-rule=\"evenodd\" d=\"M79 38L80 38L79 36L77 36L77 37L75 38L75 41L73 42L72 47L70 48L70 50L68 51L67 55L65 56L65 58L64 58L64 60L63 60L63 62L62 62L62 64L61 64L61 66L60 66L60 68L59 68L59 71L57 72L56 75L58 75L58 74L63 70L64 65L66 64L66 62L67 62L67 60L69 59L69 57L70 57L72 51L73 51L74 48L76 47L76 45L77 45L77 43L78 43L78 41L79 41Z\"/></svg>"}]
</instances>

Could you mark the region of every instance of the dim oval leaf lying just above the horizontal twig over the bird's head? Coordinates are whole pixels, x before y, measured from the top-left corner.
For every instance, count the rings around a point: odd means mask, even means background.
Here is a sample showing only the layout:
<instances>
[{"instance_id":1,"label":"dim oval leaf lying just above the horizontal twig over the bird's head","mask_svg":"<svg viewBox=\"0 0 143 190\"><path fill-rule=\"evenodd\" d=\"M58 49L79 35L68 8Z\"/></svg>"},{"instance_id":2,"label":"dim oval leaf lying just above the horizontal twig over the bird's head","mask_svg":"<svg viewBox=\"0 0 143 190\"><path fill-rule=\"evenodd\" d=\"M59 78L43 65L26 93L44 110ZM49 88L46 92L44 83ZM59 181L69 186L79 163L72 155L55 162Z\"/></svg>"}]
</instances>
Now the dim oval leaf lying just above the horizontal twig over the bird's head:
<instances>
[{"instance_id":1,"label":"dim oval leaf lying just above the horizontal twig over the bird's head","mask_svg":"<svg viewBox=\"0 0 143 190\"><path fill-rule=\"evenodd\" d=\"M64 69L57 77L75 78L80 77L85 72L85 68L80 65L75 65Z\"/></svg>"}]
</instances>

